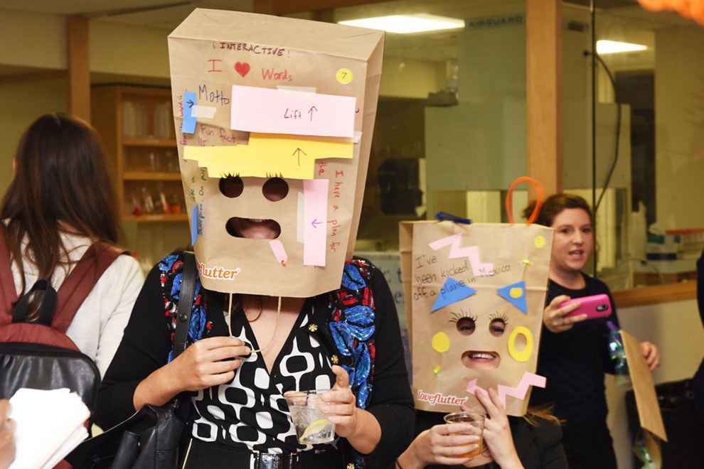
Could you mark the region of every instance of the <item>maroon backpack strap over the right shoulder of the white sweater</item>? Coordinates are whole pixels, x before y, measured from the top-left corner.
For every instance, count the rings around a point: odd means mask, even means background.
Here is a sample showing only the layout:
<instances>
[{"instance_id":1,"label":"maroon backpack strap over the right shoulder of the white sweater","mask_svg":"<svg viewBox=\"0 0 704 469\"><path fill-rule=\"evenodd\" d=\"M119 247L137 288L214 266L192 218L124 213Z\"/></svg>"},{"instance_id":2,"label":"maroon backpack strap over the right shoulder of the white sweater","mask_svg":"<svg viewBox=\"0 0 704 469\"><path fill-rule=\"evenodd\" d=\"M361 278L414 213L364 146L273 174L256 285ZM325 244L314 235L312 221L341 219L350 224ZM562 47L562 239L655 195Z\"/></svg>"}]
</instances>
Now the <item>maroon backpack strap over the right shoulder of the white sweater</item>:
<instances>
[{"instance_id":1,"label":"maroon backpack strap over the right shoulder of the white sweater","mask_svg":"<svg viewBox=\"0 0 704 469\"><path fill-rule=\"evenodd\" d=\"M88 247L58 290L56 314L51 327L66 333L73 316L93 289L103 272L120 254L129 254L122 247L95 242Z\"/></svg>"}]
</instances>

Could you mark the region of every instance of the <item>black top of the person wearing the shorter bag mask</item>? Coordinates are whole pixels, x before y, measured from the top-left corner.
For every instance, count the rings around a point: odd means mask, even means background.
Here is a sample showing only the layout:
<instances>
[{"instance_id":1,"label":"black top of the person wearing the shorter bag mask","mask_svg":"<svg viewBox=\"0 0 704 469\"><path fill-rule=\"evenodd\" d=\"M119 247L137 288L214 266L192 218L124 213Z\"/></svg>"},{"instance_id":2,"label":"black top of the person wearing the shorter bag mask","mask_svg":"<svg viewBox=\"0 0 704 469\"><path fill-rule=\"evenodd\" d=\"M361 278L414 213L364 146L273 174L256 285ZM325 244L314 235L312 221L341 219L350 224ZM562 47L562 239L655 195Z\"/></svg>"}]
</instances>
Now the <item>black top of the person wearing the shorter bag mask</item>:
<instances>
[{"instance_id":1,"label":"black top of the person wearing the shorter bag mask","mask_svg":"<svg viewBox=\"0 0 704 469\"><path fill-rule=\"evenodd\" d=\"M417 411L416 432L444 424L439 412ZM562 429L553 421L533 417L537 425L531 425L523 417L508 417L511 436L516 454L525 469L567 469L567 457L562 449ZM493 464L495 468L498 465ZM491 465L484 465L491 467ZM484 468L484 466L478 466ZM464 468L464 465L427 465L426 468L447 469Z\"/></svg>"}]
</instances>

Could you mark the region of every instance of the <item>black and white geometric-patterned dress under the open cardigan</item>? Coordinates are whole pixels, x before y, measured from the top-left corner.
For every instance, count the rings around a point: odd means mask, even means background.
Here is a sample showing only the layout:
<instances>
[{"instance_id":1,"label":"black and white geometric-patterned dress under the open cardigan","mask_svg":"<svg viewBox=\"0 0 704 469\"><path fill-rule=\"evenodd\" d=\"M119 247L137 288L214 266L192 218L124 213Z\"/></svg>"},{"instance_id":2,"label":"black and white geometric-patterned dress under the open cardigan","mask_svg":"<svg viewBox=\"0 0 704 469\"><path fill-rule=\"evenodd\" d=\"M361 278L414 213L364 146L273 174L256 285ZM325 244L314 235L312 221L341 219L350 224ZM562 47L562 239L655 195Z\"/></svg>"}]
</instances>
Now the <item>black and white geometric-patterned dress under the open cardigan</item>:
<instances>
[{"instance_id":1,"label":"black and white geometric-patterned dress under the open cardigan","mask_svg":"<svg viewBox=\"0 0 704 469\"><path fill-rule=\"evenodd\" d=\"M198 414L193 438L268 453L313 448L298 443L283 397L287 391L330 389L335 382L329 357L309 333L312 308L311 302L306 302L305 314L299 315L271 374L262 355L254 352L243 360L232 382L203 389L192 398ZM233 336L251 350L259 349L242 311L233 319Z\"/></svg>"}]
</instances>

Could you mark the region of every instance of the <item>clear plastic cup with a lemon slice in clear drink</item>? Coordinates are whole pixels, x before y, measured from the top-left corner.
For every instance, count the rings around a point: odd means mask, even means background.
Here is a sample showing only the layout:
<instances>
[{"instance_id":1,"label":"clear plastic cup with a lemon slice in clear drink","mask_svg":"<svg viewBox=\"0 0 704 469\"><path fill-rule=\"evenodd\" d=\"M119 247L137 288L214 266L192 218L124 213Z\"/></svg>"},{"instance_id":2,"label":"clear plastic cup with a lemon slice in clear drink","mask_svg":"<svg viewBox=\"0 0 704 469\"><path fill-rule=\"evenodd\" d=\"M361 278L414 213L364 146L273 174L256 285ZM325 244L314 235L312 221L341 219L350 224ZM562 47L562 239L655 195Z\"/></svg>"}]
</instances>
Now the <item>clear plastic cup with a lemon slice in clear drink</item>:
<instances>
[{"instance_id":1,"label":"clear plastic cup with a lemon slice in clear drink","mask_svg":"<svg viewBox=\"0 0 704 469\"><path fill-rule=\"evenodd\" d=\"M302 445L328 443L335 439L335 424L328 420L328 414L320 410L321 394L330 389L289 392L284 397L296 428L296 436Z\"/></svg>"}]
</instances>

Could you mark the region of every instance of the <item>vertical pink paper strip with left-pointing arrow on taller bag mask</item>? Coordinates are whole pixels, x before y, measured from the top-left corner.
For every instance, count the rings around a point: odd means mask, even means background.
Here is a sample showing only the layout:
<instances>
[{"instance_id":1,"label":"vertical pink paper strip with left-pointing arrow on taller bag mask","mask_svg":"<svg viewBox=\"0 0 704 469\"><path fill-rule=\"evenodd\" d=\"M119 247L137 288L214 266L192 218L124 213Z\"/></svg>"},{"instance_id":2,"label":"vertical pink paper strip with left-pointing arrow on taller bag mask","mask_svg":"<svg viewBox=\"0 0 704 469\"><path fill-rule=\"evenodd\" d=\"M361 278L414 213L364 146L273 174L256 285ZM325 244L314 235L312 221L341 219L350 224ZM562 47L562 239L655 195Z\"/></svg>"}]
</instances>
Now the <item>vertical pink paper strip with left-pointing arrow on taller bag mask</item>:
<instances>
[{"instance_id":1,"label":"vertical pink paper strip with left-pointing arrow on taller bag mask","mask_svg":"<svg viewBox=\"0 0 704 469\"><path fill-rule=\"evenodd\" d=\"M303 217L303 264L325 265L325 240L328 229L328 180L303 181L305 215Z\"/></svg>"}]
</instances>

